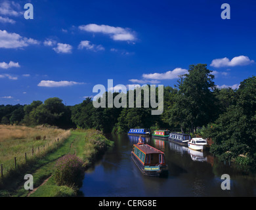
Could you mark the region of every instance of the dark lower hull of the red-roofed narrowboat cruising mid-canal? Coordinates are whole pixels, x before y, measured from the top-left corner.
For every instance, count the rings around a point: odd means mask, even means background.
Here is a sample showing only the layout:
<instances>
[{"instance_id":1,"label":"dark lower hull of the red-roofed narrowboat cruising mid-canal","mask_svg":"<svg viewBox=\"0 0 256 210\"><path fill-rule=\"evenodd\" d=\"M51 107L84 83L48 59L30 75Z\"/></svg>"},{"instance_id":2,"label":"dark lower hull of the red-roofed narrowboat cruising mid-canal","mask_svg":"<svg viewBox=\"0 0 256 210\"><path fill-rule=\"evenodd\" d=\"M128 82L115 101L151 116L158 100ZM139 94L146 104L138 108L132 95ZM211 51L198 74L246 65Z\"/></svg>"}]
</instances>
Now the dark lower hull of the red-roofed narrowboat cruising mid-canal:
<instances>
[{"instance_id":1,"label":"dark lower hull of the red-roofed narrowboat cruising mid-canal","mask_svg":"<svg viewBox=\"0 0 256 210\"><path fill-rule=\"evenodd\" d=\"M135 165L137 165L143 175L150 177L163 177L168 175L167 165L164 167L160 166L158 171L146 171L144 164L139 161L133 152L131 152L131 159L134 161Z\"/></svg>"}]
</instances>

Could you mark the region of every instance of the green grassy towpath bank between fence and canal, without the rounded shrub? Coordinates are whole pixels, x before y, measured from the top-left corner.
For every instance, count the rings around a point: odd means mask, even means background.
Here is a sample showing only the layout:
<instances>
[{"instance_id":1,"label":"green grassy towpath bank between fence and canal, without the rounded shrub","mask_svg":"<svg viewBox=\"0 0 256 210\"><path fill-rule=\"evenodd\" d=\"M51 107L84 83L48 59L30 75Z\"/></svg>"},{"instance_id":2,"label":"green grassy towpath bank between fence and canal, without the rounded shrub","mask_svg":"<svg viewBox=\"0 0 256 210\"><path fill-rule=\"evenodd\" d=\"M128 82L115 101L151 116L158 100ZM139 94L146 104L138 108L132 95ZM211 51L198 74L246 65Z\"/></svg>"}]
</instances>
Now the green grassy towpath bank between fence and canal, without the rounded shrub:
<instances>
[{"instance_id":1,"label":"green grassy towpath bank between fence and canal, without the rounded shrub","mask_svg":"<svg viewBox=\"0 0 256 210\"><path fill-rule=\"evenodd\" d=\"M28 191L24 190L22 185L24 184L24 175L28 173L33 175L34 189L37 188L30 196L75 196L77 186L58 186L51 177L56 161L66 154L75 154L83 160L85 168L88 168L96 157L112 144L99 131L93 129L71 131L70 137L62 142L56 142L55 150L34 158L30 165L27 163L22 168L16 169L18 176L10 176L5 180L5 188L0 190L0 196L28 196ZM49 177L51 178L41 186Z\"/></svg>"}]
</instances>

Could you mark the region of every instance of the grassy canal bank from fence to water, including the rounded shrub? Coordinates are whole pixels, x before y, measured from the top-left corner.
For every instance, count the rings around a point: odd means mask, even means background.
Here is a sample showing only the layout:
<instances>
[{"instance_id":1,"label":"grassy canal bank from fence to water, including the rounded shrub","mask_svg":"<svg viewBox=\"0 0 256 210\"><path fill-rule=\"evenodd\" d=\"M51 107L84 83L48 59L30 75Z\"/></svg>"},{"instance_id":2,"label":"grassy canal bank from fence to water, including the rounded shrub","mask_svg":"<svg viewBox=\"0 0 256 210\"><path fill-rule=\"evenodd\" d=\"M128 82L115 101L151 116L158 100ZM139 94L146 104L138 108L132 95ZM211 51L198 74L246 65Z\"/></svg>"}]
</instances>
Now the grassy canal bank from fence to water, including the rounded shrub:
<instances>
[{"instance_id":1,"label":"grassy canal bank from fence to water, including the rounded shrub","mask_svg":"<svg viewBox=\"0 0 256 210\"><path fill-rule=\"evenodd\" d=\"M24 129L23 126L15 127ZM35 131L30 127L28 129L32 133L37 132L37 128L34 128ZM69 135L56 143L54 141L51 151L28 159L26 163L19 163L16 169L12 169L3 178L0 177L0 196L77 196L84 169L92 165L96 157L103 154L113 142L94 129L65 132ZM16 146L17 150L18 148L19 146ZM2 162L2 159L0 160ZM69 177L70 170L76 169L77 173L71 173L74 176ZM33 186L36 190L30 194L23 187L25 174L33 175Z\"/></svg>"}]
</instances>

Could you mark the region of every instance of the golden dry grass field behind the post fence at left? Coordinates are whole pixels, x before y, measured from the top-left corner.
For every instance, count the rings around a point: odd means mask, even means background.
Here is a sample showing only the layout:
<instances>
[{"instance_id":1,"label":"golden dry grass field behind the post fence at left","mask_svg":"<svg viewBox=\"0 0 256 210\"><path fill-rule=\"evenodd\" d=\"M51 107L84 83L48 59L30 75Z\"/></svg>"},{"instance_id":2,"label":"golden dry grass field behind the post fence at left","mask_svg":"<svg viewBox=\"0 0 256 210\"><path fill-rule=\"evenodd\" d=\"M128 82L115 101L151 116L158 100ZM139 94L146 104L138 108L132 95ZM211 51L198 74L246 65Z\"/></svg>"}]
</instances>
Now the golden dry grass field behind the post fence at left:
<instances>
[{"instance_id":1,"label":"golden dry grass field behind the post fence at left","mask_svg":"<svg viewBox=\"0 0 256 210\"><path fill-rule=\"evenodd\" d=\"M49 127L26 127L0 125L0 164L3 175L7 176L16 167L35 156L51 152L54 145L70 136L70 131ZM33 150L33 157L32 157Z\"/></svg>"}]
</instances>

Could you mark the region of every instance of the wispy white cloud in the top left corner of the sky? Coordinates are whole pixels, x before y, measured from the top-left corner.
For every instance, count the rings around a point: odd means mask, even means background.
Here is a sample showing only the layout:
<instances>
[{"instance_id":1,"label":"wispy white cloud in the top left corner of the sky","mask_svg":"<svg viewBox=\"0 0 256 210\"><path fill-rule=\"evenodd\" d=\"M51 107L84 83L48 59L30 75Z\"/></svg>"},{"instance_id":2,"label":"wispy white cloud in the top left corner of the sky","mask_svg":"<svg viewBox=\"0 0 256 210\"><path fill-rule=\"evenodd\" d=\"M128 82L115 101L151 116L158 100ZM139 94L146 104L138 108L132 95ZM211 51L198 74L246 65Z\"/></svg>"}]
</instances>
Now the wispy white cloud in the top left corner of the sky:
<instances>
[{"instance_id":1,"label":"wispy white cloud in the top left corner of the sky","mask_svg":"<svg viewBox=\"0 0 256 210\"><path fill-rule=\"evenodd\" d=\"M20 11L20 5L15 3L14 1L3 1L0 4L0 14L5 16L19 16L22 15L23 12ZM18 10L18 11L16 11Z\"/></svg>"}]
</instances>

